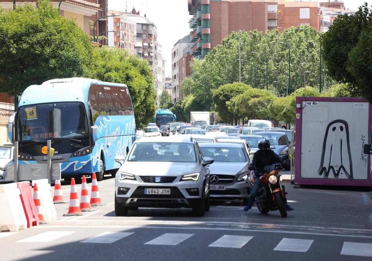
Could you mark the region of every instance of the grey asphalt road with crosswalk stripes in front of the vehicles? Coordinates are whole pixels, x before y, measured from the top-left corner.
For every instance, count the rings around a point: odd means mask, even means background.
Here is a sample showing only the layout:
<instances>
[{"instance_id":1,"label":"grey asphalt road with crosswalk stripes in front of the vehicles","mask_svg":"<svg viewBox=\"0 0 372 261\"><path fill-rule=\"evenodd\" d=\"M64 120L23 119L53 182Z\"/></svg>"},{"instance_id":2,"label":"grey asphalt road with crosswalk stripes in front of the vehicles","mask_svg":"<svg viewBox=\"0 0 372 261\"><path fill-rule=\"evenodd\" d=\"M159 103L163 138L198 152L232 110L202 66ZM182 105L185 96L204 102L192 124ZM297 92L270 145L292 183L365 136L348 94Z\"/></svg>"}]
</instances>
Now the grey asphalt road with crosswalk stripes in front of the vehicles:
<instances>
[{"instance_id":1,"label":"grey asphalt road with crosswalk stripes in front of the vehicles","mask_svg":"<svg viewBox=\"0 0 372 261\"><path fill-rule=\"evenodd\" d=\"M189 209L151 208L116 217L114 179L108 176L99 182L105 206L63 217L68 204L56 204L57 221L0 232L0 259L372 260L370 192L285 185L295 208L287 218L257 208L244 212L241 201L212 201L204 217ZM68 200L67 182L62 191Z\"/></svg>"}]
</instances>

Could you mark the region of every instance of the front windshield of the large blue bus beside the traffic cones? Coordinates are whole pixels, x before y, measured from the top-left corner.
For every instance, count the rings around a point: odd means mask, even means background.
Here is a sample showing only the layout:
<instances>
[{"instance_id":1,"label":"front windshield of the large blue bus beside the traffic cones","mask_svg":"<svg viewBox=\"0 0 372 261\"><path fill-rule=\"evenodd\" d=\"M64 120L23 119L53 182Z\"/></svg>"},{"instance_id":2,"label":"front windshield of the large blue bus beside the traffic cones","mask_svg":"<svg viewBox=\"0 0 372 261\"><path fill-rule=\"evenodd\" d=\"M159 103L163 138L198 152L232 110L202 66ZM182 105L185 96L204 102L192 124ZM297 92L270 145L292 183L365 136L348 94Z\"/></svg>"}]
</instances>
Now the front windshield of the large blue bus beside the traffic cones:
<instances>
[{"instance_id":1,"label":"front windshield of the large blue bus beside the traffic cones","mask_svg":"<svg viewBox=\"0 0 372 261\"><path fill-rule=\"evenodd\" d=\"M64 102L20 107L18 135L19 141L89 138L84 105L77 102Z\"/></svg>"}]
</instances>

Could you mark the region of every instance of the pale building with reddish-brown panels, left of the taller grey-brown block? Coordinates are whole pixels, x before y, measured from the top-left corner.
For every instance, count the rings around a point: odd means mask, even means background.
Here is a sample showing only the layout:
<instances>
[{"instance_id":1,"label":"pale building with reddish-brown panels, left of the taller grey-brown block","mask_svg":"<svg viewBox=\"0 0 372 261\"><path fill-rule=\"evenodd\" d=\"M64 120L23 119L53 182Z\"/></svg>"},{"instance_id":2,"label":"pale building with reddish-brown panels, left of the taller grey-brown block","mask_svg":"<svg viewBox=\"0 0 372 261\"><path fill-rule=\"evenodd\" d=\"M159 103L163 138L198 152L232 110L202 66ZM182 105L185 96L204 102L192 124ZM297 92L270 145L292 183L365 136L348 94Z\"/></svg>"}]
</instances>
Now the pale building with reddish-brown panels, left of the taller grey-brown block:
<instances>
[{"instance_id":1,"label":"pale building with reddish-brown panels, left of the taller grey-brown block","mask_svg":"<svg viewBox=\"0 0 372 261\"><path fill-rule=\"evenodd\" d=\"M108 11L108 45L127 50L130 54L137 54L137 24L131 22L120 12Z\"/></svg>"}]
</instances>

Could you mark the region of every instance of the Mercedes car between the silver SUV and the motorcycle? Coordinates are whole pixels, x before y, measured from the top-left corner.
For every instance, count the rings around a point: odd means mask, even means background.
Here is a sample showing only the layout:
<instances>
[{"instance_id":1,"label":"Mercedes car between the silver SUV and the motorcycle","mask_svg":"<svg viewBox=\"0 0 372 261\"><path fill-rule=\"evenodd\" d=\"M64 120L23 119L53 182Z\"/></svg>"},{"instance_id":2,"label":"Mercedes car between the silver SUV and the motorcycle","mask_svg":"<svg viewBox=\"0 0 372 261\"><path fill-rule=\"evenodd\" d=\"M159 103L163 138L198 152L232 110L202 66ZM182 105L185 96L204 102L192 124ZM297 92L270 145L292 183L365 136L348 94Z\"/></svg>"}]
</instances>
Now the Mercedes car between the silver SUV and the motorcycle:
<instances>
[{"instance_id":1,"label":"Mercedes car between the silver SUV and the motorcycle","mask_svg":"<svg viewBox=\"0 0 372 261\"><path fill-rule=\"evenodd\" d=\"M244 204L248 204L250 190L246 180L251 164L243 144L218 142L199 145L204 157L214 158L209 167L211 199L243 199Z\"/></svg>"}]
</instances>

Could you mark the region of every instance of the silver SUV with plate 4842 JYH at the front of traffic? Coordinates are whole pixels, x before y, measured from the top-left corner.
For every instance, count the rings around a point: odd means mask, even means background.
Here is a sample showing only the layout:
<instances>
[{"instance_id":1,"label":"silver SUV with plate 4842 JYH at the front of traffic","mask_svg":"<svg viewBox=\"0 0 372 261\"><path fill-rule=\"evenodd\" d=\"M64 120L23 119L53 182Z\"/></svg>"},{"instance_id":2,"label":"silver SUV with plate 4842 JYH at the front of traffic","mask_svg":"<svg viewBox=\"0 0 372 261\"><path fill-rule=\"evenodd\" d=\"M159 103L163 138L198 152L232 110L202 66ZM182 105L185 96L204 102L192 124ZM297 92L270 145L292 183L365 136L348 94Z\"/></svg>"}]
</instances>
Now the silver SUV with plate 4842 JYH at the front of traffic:
<instances>
[{"instance_id":1,"label":"silver SUV with plate 4842 JYH at the front of traffic","mask_svg":"<svg viewBox=\"0 0 372 261\"><path fill-rule=\"evenodd\" d=\"M115 177L115 214L146 208L192 208L195 216L209 210L209 164L198 143L178 136L149 137L132 145Z\"/></svg>"}]
</instances>

